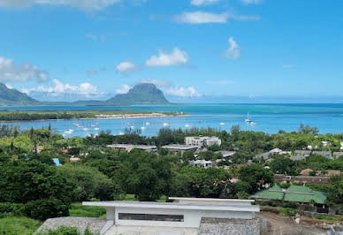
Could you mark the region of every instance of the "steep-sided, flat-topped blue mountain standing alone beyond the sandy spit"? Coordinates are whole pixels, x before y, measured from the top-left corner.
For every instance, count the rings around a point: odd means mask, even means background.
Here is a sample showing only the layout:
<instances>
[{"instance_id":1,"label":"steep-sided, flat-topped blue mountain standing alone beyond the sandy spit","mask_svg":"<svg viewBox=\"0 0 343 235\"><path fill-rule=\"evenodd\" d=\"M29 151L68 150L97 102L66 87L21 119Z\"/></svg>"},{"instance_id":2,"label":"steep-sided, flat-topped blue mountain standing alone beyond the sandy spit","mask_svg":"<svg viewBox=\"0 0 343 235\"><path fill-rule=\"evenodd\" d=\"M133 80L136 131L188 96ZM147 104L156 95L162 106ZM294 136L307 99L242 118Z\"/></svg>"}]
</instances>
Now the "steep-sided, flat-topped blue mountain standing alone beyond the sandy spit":
<instances>
[{"instance_id":1,"label":"steep-sided, flat-topped blue mountain standing alone beyond the sandy spit","mask_svg":"<svg viewBox=\"0 0 343 235\"><path fill-rule=\"evenodd\" d=\"M135 85L126 94L116 95L104 102L105 105L142 105L142 104L169 104L164 93L151 83Z\"/></svg>"}]
</instances>

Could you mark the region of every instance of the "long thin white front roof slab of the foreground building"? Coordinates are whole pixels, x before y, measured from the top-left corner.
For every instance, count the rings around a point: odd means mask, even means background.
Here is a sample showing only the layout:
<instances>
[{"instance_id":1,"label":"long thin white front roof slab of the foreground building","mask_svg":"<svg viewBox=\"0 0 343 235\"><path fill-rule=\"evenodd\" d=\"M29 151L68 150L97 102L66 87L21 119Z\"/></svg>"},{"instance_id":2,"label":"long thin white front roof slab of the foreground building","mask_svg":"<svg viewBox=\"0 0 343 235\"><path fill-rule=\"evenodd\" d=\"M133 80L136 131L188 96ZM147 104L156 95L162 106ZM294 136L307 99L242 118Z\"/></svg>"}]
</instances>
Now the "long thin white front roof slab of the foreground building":
<instances>
[{"instance_id":1,"label":"long thin white front roof slab of the foreground building","mask_svg":"<svg viewBox=\"0 0 343 235\"><path fill-rule=\"evenodd\" d=\"M253 205L225 205L225 204L196 204L196 203L173 203L151 201L83 201L84 206L108 207L108 208L165 208L165 209L189 209L189 210L217 210L217 211L246 211L258 212L259 206Z\"/></svg>"}]
</instances>

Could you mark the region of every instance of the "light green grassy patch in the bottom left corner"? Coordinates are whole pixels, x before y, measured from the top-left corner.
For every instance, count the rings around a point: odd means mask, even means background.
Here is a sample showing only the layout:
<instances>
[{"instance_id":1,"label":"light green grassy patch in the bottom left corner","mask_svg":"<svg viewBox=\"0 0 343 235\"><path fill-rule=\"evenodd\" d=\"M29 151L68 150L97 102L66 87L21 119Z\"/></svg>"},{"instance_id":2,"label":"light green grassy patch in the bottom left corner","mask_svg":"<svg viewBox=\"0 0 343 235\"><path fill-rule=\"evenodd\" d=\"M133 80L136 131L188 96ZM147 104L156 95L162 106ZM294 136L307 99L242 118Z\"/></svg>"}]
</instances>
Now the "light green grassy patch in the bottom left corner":
<instances>
[{"instance_id":1,"label":"light green grassy patch in the bottom left corner","mask_svg":"<svg viewBox=\"0 0 343 235\"><path fill-rule=\"evenodd\" d=\"M7 216L0 218L0 234L31 235L42 222L27 217Z\"/></svg>"}]
</instances>

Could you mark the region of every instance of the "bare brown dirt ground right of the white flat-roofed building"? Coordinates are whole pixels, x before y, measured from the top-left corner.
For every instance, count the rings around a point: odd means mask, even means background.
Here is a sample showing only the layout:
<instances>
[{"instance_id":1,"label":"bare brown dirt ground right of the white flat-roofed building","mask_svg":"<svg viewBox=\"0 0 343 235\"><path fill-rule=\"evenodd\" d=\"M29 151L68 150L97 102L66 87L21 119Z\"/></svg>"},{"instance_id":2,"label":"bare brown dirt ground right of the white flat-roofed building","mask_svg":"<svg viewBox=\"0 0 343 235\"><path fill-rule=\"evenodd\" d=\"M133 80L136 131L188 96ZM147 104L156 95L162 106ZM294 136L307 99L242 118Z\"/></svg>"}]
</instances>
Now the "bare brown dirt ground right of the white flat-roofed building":
<instances>
[{"instance_id":1,"label":"bare brown dirt ground right of the white flat-roofed building","mask_svg":"<svg viewBox=\"0 0 343 235\"><path fill-rule=\"evenodd\" d=\"M257 218L268 221L268 230L266 234L271 235L309 235L309 234L327 234L326 231L316 229L312 226L296 224L287 216L281 216L271 212L258 212Z\"/></svg>"}]
</instances>

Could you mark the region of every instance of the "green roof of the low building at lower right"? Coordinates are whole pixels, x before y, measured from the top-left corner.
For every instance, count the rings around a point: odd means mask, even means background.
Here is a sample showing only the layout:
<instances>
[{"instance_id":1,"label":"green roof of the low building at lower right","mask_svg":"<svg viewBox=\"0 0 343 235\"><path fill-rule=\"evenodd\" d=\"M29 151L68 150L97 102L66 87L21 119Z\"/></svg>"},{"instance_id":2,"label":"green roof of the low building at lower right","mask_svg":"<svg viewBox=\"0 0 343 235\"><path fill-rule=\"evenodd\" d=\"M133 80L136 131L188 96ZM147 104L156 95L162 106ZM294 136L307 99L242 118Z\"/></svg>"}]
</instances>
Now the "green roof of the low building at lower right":
<instances>
[{"instance_id":1,"label":"green roof of the low building at lower right","mask_svg":"<svg viewBox=\"0 0 343 235\"><path fill-rule=\"evenodd\" d=\"M268 200L283 200L305 203L309 203L309 201L315 201L318 204L325 204L327 199L326 193L311 190L308 186L290 186L285 190L277 185L255 193L254 197Z\"/></svg>"}]
</instances>

